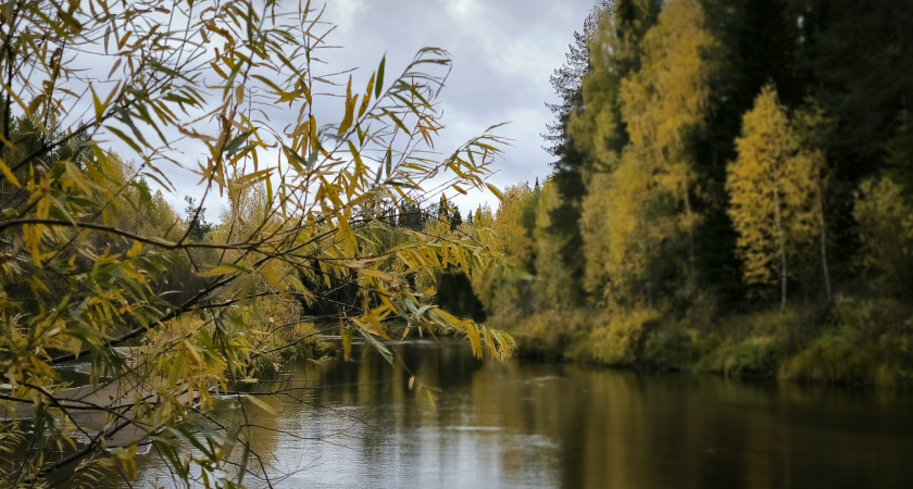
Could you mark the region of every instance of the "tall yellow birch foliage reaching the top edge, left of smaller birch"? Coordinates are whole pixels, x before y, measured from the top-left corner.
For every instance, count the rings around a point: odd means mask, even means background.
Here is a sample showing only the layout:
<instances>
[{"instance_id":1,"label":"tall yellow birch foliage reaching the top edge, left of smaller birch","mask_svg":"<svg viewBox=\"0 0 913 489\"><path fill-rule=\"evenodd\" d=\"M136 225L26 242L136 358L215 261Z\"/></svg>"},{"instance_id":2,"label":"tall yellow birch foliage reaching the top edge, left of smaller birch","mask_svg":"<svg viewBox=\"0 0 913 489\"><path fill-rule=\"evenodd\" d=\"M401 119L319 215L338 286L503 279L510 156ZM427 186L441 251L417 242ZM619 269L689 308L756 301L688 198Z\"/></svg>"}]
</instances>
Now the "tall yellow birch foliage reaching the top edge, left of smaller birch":
<instances>
[{"instance_id":1,"label":"tall yellow birch foliage reaching the top edge, left of smaller birch","mask_svg":"<svg viewBox=\"0 0 913 489\"><path fill-rule=\"evenodd\" d=\"M584 249L591 260L586 284L597 298L653 306L661 289L678 293L693 284L701 223L693 196L701 180L692 142L710 112L717 48L700 2L671 1L636 48L638 68L614 83L616 92L612 84L593 87L602 104L592 110L602 116L581 130L626 130L629 140L621 153L608 146L591 150L604 174L590 179L583 218ZM616 62L605 61L604 77L614 76ZM614 103L624 126L612 115Z\"/></svg>"}]
</instances>

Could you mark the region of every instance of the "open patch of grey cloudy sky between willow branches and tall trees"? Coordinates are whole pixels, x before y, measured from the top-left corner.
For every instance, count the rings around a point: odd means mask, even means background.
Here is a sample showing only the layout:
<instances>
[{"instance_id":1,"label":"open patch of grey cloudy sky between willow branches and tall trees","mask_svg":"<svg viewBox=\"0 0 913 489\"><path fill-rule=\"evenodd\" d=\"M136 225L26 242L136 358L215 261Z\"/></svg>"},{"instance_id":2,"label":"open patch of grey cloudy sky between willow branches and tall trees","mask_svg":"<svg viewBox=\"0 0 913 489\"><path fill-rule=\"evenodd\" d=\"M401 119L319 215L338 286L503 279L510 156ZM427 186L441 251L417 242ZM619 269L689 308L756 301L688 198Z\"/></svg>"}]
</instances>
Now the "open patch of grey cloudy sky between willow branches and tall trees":
<instances>
[{"instance_id":1,"label":"open patch of grey cloudy sky between willow branches and tall trees","mask_svg":"<svg viewBox=\"0 0 913 489\"><path fill-rule=\"evenodd\" d=\"M325 20L336 24L329 42L343 47L334 67L359 66L361 77L387 54L387 73L400 73L423 47L448 50L453 70L440 97L447 129L437 145L455 149L490 125L510 122L500 134L512 139L490 181L499 187L542 179L552 156L541 133L553 120L546 102L575 30L593 0L333 0ZM360 76L357 74L357 78ZM480 193L456 200L465 212L487 201Z\"/></svg>"}]
</instances>

